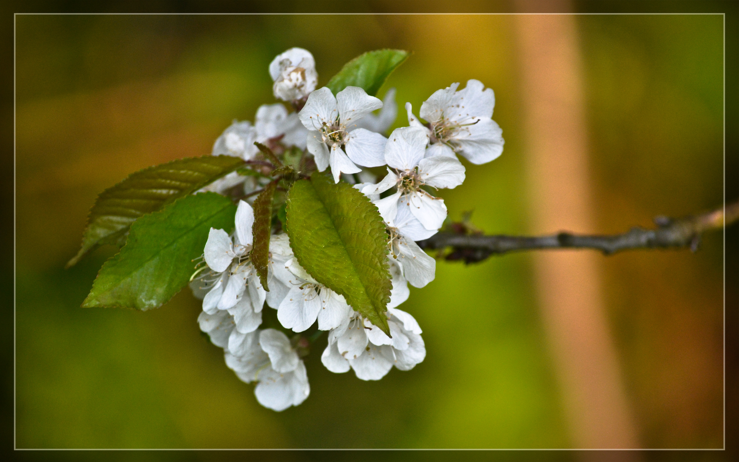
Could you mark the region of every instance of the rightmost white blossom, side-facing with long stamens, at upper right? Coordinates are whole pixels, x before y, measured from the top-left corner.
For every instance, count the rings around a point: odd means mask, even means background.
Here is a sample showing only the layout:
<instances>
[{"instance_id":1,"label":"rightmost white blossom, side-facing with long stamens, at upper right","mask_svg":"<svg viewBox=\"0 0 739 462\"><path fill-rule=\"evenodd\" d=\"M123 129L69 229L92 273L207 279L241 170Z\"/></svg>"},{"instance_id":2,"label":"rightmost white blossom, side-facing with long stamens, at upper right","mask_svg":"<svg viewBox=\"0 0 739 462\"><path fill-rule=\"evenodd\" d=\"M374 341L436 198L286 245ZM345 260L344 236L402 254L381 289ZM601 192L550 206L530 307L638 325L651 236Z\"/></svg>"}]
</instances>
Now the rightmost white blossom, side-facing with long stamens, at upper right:
<instances>
[{"instance_id":1,"label":"rightmost white blossom, side-facing with long stamens, at upper right","mask_svg":"<svg viewBox=\"0 0 739 462\"><path fill-rule=\"evenodd\" d=\"M482 164L503 153L503 130L492 120L495 94L482 82L467 81L460 91L452 84L434 92L420 106L420 116L429 123L423 127L406 103L410 126L426 128L429 149L426 157L461 154L471 163Z\"/></svg>"}]
</instances>

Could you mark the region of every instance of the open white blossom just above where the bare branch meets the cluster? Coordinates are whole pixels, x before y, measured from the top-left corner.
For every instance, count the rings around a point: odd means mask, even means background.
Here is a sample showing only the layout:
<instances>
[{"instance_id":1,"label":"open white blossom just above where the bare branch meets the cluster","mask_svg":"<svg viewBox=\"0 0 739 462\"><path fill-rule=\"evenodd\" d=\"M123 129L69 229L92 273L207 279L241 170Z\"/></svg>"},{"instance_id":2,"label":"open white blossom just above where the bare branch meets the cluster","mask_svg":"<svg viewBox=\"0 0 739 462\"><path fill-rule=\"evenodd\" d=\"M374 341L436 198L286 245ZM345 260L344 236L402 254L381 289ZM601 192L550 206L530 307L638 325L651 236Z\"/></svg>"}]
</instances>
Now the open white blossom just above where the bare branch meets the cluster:
<instances>
[{"instance_id":1,"label":"open white blossom just above where the bare branch meets the cluster","mask_svg":"<svg viewBox=\"0 0 739 462\"><path fill-rule=\"evenodd\" d=\"M465 168L455 157L424 157L428 135L425 129L403 127L390 134L385 146L385 161L394 171L380 183L362 188L364 194L380 194L389 188L397 192L375 205L385 217L395 217L395 209L406 206L428 231L436 231L446 218L443 199L434 197L421 186L454 188L464 181Z\"/></svg>"}]
</instances>

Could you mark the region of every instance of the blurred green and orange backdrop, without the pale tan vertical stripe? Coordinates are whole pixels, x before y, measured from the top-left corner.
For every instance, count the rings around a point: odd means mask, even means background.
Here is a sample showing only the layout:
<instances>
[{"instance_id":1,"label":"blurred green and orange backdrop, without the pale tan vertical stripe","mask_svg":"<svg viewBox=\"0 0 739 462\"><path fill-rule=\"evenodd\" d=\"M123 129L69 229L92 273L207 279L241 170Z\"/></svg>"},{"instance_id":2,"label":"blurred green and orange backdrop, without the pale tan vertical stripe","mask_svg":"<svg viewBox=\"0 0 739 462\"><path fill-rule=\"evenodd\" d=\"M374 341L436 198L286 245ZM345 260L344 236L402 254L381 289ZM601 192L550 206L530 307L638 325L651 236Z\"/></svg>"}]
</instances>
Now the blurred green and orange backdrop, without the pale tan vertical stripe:
<instances>
[{"instance_id":1,"label":"blurred green and orange backdrop, without the pale tan vertical stripe","mask_svg":"<svg viewBox=\"0 0 739 462\"><path fill-rule=\"evenodd\" d=\"M273 412L225 367L183 291L159 310L80 304L105 248L75 268L96 194L137 169L208 154L272 103L267 67L313 52L320 84L355 55L414 54L381 90L416 111L477 78L505 151L443 191L488 233L528 228L526 133L511 16L18 16L18 448L552 448L571 439L534 297L531 257L437 277L401 308L427 356L381 381L307 358L311 393ZM721 16L578 16L599 231L722 203ZM556 230L551 230L556 231ZM575 230L576 231L576 230ZM602 257L611 330L644 447L723 444L723 247ZM733 290L733 289L732 289Z\"/></svg>"}]
</instances>

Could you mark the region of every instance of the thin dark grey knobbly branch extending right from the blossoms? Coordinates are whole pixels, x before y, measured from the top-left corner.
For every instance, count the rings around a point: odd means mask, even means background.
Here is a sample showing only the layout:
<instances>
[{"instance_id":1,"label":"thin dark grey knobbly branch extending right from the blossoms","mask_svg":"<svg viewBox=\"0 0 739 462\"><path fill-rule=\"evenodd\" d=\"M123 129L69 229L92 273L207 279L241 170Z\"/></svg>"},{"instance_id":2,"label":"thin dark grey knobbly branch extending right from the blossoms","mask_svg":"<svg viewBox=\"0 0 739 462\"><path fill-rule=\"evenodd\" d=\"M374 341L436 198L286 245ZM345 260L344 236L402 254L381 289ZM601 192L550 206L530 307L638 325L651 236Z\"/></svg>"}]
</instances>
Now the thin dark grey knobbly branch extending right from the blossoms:
<instances>
[{"instance_id":1,"label":"thin dark grey knobbly branch extending right from the blossoms","mask_svg":"<svg viewBox=\"0 0 739 462\"><path fill-rule=\"evenodd\" d=\"M624 234L596 235L571 234L560 232L548 236L506 236L498 234L469 234L464 223L452 226L460 232L441 231L427 240L418 241L420 248L443 249L451 247L447 260L464 260L466 263L480 262L493 254L500 255L512 251L527 251L539 248L593 248L606 255L636 248L687 247L698 250L701 234L704 231L721 229L739 220L739 201L726 204L705 214L673 220L668 217L655 217L657 228L631 228Z\"/></svg>"}]
</instances>

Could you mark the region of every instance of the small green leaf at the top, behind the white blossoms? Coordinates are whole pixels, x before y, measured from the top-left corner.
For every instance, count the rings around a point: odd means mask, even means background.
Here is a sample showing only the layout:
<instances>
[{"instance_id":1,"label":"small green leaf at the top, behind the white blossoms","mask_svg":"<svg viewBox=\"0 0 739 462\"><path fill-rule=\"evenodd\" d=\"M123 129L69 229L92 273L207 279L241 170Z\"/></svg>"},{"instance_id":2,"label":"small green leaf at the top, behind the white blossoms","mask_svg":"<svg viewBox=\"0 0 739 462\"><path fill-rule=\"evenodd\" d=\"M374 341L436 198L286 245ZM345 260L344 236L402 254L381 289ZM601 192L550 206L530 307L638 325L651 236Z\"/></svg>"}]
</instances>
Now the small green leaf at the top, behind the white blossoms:
<instances>
[{"instance_id":1,"label":"small green leaf at the top, behind the white blossoms","mask_svg":"<svg viewBox=\"0 0 739 462\"><path fill-rule=\"evenodd\" d=\"M334 75L326 86L334 95L347 86L364 88L367 95L375 96L390 72L409 56L403 50L375 50L359 55Z\"/></svg>"}]
</instances>

